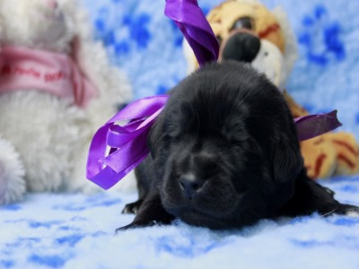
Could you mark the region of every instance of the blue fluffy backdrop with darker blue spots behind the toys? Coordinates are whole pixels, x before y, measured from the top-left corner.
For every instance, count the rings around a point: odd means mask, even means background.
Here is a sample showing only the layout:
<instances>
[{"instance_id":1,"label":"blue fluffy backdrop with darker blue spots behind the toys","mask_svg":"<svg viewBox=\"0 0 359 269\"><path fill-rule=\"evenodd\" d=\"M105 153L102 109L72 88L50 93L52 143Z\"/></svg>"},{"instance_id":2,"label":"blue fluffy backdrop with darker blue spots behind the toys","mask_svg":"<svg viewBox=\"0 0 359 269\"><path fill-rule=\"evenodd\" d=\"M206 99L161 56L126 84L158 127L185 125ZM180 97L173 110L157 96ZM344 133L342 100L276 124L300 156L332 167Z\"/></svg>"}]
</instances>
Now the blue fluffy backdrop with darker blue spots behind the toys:
<instances>
[{"instance_id":1,"label":"blue fluffy backdrop with darker blue spots behind the toys","mask_svg":"<svg viewBox=\"0 0 359 269\"><path fill-rule=\"evenodd\" d=\"M186 75L182 35L163 0L84 0L97 38L133 82L136 98L163 93ZM207 13L219 0L199 1ZM287 91L311 113L338 109L342 130L359 139L359 1L264 0L282 6L299 41Z\"/></svg>"}]
</instances>

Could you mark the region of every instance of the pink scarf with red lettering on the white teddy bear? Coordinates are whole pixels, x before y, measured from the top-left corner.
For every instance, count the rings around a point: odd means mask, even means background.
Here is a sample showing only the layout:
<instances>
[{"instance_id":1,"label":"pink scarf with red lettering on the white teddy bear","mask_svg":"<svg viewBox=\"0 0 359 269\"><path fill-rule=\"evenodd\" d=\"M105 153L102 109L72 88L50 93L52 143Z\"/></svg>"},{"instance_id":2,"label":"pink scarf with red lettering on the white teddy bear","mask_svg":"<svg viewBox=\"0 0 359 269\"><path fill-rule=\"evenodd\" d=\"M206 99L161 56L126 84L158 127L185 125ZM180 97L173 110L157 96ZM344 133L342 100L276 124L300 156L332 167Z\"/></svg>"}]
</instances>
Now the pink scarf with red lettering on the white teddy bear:
<instances>
[{"instance_id":1,"label":"pink scarf with red lettering on the white teddy bear","mask_svg":"<svg viewBox=\"0 0 359 269\"><path fill-rule=\"evenodd\" d=\"M0 93L46 91L86 107L97 95L91 80L71 56L34 48L0 48Z\"/></svg>"}]
</instances>

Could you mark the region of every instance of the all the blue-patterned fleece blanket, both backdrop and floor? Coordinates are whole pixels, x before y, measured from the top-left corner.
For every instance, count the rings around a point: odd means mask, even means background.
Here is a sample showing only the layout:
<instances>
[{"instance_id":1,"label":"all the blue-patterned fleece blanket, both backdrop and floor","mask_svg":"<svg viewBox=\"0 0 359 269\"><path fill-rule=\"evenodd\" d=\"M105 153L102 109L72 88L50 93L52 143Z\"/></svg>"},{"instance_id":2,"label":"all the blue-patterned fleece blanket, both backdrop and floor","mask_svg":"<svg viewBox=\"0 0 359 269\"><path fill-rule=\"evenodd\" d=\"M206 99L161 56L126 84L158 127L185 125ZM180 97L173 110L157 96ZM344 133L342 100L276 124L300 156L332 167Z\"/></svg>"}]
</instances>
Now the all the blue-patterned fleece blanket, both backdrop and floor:
<instances>
[{"instance_id":1,"label":"all the blue-patterned fleece blanket, both backdrop and floor","mask_svg":"<svg viewBox=\"0 0 359 269\"><path fill-rule=\"evenodd\" d=\"M186 75L182 37L165 18L164 0L83 0L96 38L127 72L136 98L163 93ZM218 0L200 0L208 12ZM339 110L343 130L359 138L359 2L265 0L281 4L300 42L288 91L311 113ZM359 205L359 177L322 182ZM312 215L211 231L177 221L167 227L114 230L136 194L27 195L0 208L0 268L359 268L359 218Z\"/></svg>"}]
</instances>

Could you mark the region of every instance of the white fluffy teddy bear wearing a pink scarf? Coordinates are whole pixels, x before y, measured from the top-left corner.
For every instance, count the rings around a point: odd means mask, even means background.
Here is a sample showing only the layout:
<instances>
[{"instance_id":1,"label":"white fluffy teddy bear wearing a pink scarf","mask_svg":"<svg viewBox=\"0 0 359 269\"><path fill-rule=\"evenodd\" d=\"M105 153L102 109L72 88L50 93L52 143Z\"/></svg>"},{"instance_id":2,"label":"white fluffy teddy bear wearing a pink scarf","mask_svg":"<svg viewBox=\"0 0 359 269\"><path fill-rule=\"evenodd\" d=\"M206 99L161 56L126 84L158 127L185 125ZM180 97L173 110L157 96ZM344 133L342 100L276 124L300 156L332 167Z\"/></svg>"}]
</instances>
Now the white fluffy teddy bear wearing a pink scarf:
<instances>
[{"instance_id":1,"label":"white fluffy teddy bear wearing a pink scarf","mask_svg":"<svg viewBox=\"0 0 359 269\"><path fill-rule=\"evenodd\" d=\"M85 178L89 143L130 99L77 1L1 0L0 204L98 190Z\"/></svg>"}]
</instances>

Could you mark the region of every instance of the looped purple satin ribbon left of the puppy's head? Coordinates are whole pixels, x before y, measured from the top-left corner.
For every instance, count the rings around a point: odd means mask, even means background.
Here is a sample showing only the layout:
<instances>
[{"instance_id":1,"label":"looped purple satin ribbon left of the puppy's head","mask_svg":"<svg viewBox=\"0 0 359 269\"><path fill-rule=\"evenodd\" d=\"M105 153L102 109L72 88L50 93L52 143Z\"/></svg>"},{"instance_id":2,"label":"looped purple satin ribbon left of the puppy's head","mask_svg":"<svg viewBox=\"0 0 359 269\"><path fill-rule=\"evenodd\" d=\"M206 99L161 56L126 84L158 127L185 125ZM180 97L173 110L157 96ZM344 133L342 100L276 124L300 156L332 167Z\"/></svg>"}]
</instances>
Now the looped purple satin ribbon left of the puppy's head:
<instances>
[{"instance_id":1,"label":"looped purple satin ribbon left of the puppy's head","mask_svg":"<svg viewBox=\"0 0 359 269\"><path fill-rule=\"evenodd\" d=\"M147 135L160 114L168 95L136 100L118 112L92 138L86 177L108 189L144 160L149 150ZM118 121L128 121L118 126Z\"/></svg>"}]
</instances>

